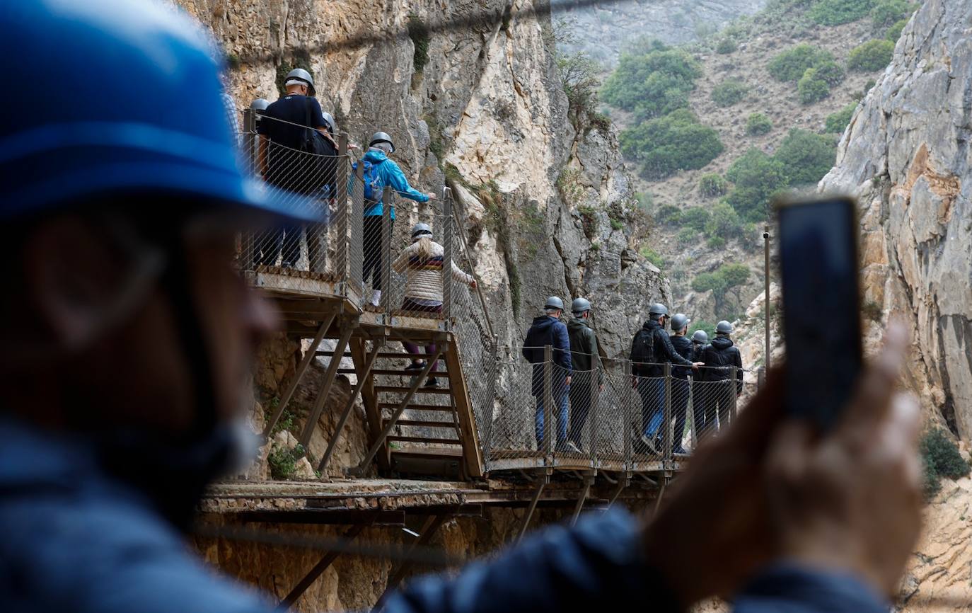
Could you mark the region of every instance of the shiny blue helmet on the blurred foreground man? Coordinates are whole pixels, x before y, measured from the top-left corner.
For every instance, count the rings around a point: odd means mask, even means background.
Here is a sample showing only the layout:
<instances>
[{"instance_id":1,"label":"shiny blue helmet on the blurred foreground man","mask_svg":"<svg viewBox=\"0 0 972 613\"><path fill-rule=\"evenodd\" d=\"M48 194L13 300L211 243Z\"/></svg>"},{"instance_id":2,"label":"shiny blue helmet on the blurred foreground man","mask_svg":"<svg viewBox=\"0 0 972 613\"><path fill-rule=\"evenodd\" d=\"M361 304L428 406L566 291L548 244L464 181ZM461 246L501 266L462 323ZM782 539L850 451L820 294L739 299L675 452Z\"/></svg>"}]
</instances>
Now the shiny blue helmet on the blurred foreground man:
<instances>
[{"instance_id":1,"label":"shiny blue helmet on the blurred foreground man","mask_svg":"<svg viewBox=\"0 0 972 613\"><path fill-rule=\"evenodd\" d=\"M221 66L201 26L136 0L31 0L0 11L5 78L56 87L11 96L0 117L0 223L108 193L189 196L313 219L247 179ZM98 102L92 103L92 100Z\"/></svg>"}]
</instances>

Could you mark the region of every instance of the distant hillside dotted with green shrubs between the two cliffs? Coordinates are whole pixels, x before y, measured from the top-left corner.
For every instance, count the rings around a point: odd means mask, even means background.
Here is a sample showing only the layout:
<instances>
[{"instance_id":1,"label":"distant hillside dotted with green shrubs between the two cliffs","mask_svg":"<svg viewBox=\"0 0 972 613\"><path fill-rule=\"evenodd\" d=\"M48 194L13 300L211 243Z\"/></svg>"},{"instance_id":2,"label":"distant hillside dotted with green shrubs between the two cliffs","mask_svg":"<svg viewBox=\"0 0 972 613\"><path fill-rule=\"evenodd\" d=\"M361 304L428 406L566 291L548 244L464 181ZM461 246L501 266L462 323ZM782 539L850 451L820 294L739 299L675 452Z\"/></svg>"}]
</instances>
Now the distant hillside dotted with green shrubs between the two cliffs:
<instances>
[{"instance_id":1,"label":"distant hillside dotted with green shrubs between the two cliffs","mask_svg":"<svg viewBox=\"0 0 972 613\"><path fill-rule=\"evenodd\" d=\"M770 202L830 170L915 9L770 0L691 46L645 40L621 56L602 100L657 224L644 248L668 265L677 304L732 318L758 293ZM725 291L731 264L747 273Z\"/></svg>"}]
</instances>

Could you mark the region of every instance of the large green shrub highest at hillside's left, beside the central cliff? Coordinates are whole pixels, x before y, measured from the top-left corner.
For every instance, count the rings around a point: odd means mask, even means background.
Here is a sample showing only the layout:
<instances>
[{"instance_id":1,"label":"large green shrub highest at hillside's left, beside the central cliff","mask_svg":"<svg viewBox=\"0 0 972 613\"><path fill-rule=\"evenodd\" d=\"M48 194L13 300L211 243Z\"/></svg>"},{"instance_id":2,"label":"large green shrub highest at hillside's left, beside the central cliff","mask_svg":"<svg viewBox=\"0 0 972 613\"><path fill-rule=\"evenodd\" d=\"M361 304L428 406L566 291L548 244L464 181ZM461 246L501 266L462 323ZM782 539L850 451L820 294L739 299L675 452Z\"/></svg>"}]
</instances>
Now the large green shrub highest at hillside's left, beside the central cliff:
<instances>
[{"instance_id":1,"label":"large green shrub highest at hillside's left, beside the central cliff","mask_svg":"<svg viewBox=\"0 0 972 613\"><path fill-rule=\"evenodd\" d=\"M621 56L602 94L611 106L651 119L688 106L688 92L701 76L690 54L652 43L645 53Z\"/></svg>"}]
</instances>

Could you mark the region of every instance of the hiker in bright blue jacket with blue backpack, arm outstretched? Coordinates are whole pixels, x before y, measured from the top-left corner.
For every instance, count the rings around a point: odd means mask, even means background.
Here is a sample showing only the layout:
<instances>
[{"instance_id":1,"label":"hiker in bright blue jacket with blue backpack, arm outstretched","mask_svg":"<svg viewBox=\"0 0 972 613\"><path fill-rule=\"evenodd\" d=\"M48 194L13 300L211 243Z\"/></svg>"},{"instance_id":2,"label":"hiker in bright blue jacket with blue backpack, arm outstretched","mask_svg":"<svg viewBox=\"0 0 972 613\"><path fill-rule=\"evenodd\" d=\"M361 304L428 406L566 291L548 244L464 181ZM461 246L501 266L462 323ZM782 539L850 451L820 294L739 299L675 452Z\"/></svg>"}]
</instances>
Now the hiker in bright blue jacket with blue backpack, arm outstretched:
<instances>
[{"instance_id":1,"label":"hiker in bright blue jacket with blue backpack, arm outstretched","mask_svg":"<svg viewBox=\"0 0 972 613\"><path fill-rule=\"evenodd\" d=\"M392 188L396 196L409 198L416 202L428 202L435 198L433 193L423 194L408 184L405 173L399 164L389 156L395 153L395 143L386 132L378 131L371 136L367 151L361 162L355 162L352 168L357 171L358 164L364 164L364 262L362 263L362 280L371 280L371 305L381 304L382 267L384 241L381 239L381 218L385 210L382 203L382 192L386 187ZM352 174L348 184L348 192L352 191ZM395 204L389 202L391 210L389 217L395 224ZM389 229L391 234L391 229Z\"/></svg>"}]
</instances>

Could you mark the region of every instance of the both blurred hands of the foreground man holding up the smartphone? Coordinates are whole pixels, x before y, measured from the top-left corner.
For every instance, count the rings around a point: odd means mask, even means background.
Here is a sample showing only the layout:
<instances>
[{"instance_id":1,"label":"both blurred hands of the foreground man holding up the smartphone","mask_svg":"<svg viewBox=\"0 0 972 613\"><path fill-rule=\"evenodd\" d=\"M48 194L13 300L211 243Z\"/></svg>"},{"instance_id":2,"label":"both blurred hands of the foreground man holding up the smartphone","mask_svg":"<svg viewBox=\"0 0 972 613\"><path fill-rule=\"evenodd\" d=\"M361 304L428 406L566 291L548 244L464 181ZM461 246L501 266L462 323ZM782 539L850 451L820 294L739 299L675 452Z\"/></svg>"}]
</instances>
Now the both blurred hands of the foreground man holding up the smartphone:
<instances>
[{"instance_id":1,"label":"both blurred hands of the foreground man holding up the smartphone","mask_svg":"<svg viewBox=\"0 0 972 613\"><path fill-rule=\"evenodd\" d=\"M700 446L642 537L683 606L733 595L781 558L893 585L920 526L916 413L893 392L900 337L888 333L881 360L822 438L786 419L775 371L726 433Z\"/></svg>"}]
</instances>

